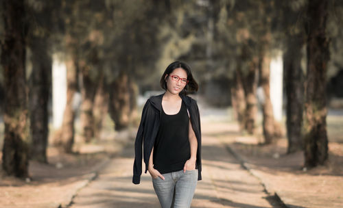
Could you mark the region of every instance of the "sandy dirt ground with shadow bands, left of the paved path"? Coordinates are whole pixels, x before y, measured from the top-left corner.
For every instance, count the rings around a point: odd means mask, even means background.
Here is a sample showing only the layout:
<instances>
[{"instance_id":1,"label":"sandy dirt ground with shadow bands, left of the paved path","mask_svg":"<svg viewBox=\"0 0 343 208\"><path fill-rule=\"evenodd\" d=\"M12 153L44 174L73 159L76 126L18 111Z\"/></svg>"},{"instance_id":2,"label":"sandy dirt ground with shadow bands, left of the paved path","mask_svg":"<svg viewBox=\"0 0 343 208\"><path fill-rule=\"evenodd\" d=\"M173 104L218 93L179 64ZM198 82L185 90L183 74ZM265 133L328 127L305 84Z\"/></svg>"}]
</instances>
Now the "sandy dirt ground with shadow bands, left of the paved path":
<instances>
[{"instance_id":1,"label":"sandy dirt ground with shadow bands, left of the paved path","mask_svg":"<svg viewBox=\"0 0 343 208\"><path fill-rule=\"evenodd\" d=\"M74 154L49 146L48 164L29 161L30 179L7 177L0 168L0 207L66 207L78 190L96 177L97 170L132 140L134 131L106 131L102 139L89 144L77 134Z\"/></svg>"}]
</instances>

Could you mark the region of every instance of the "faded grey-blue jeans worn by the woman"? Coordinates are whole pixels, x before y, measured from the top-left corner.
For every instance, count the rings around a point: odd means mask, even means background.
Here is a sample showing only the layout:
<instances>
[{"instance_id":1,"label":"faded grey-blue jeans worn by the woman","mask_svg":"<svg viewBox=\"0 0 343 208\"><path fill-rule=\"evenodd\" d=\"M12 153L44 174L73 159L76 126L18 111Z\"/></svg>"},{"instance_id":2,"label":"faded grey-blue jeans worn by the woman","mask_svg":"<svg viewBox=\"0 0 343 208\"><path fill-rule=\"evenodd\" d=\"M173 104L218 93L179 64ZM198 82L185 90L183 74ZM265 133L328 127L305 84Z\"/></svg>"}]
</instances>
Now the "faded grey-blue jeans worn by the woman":
<instances>
[{"instance_id":1,"label":"faded grey-blue jeans worn by the woman","mask_svg":"<svg viewBox=\"0 0 343 208\"><path fill-rule=\"evenodd\" d=\"M191 207L196 184L198 183L198 170L183 170L163 174L165 180L160 177L152 179L155 193L162 208L186 208Z\"/></svg>"}]
</instances>

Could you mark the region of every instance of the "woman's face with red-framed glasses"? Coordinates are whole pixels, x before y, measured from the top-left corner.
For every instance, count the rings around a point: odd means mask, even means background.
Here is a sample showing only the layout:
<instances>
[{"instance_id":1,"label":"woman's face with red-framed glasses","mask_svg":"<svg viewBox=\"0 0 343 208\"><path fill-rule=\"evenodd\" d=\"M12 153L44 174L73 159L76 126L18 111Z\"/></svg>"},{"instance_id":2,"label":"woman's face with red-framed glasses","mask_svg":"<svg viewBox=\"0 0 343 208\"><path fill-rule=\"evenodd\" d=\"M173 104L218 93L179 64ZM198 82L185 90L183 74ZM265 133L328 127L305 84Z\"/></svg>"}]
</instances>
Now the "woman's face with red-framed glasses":
<instances>
[{"instance_id":1,"label":"woman's face with red-framed glasses","mask_svg":"<svg viewBox=\"0 0 343 208\"><path fill-rule=\"evenodd\" d=\"M176 81L176 79L179 80ZM187 79L187 73L183 68L176 68L170 73L170 75L165 75L167 90L171 94L179 94L186 86L186 83L184 83L182 79Z\"/></svg>"}]
</instances>

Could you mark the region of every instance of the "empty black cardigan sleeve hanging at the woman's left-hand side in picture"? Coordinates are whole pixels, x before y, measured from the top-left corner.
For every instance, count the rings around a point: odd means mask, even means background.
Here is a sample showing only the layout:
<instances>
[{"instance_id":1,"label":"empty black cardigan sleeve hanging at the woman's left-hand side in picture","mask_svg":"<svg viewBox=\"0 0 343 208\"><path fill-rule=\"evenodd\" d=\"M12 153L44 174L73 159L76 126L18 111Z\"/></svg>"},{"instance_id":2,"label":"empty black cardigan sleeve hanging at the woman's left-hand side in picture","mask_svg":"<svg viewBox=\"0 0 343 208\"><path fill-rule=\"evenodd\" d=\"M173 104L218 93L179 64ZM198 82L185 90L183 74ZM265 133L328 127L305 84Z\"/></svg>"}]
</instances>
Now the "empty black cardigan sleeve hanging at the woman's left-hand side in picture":
<instances>
[{"instance_id":1,"label":"empty black cardigan sleeve hanging at the woman's left-hand side in picture","mask_svg":"<svg viewBox=\"0 0 343 208\"><path fill-rule=\"evenodd\" d=\"M147 101L143 107L141 123L139 124L136 141L134 142L134 164L133 164L133 177L132 183L139 184L141 182L142 174L142 144L143 144L143 129L145 120L147 117L147 108L149 101Z\"/></svg>"}]
</instances>

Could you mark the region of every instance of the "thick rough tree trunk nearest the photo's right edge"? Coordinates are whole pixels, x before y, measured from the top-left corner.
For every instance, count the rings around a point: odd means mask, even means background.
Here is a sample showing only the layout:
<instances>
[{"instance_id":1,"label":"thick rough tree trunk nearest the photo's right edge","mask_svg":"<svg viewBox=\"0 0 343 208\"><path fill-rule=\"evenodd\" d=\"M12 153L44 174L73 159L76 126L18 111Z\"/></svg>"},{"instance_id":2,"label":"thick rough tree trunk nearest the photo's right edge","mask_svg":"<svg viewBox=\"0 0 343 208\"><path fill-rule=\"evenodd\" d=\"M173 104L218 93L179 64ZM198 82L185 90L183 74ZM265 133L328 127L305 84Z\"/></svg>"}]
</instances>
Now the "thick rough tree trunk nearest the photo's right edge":
<instances>
[{"instance_id":1,"label":"thick rough tree trunk nearest the photo's right edge","mask_svg":"<svg viewBox=\"0 0 343 208\"><path fill-rule=\"evenodd\" d=\"M328 157L326 77L329 38L327 0L309 1L307 8L307 77L304 120L305 166L324 164Z\"/></svg>"}]
</instances>

